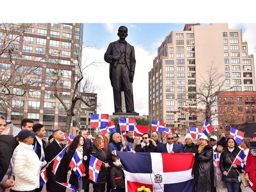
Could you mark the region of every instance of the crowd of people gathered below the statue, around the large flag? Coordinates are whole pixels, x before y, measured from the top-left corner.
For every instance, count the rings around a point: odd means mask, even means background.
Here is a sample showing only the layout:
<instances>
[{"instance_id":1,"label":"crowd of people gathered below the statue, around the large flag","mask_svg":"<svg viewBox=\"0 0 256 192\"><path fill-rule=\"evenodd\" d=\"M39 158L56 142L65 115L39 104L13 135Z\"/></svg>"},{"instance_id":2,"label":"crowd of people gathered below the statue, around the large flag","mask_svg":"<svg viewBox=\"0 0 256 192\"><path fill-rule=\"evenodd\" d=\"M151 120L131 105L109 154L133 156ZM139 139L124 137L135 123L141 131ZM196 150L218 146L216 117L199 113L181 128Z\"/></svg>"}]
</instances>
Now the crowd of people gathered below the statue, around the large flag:
<instances>
[{"instance_id":1,"label":"crowd of people gathered below the statue, around the large flag","mask_svg":"<svg viewBox=\"0 0 256 192\"><path fill-rule=\"evenodd\" d=\"M42 158L50 162L67 145L62 130L54 130L48 143L45 128L42 124L33 124L31 119L22 119L21 131L15 137L9 135L5 117L0 116L0 192L10 189L13 192L41 192L39 174L42 168ZM79 192L88 192L92 183L94 192L124 192L124 172L121 159L116 151L159 152L159 153L192 153L194 166L195 192L256 192L256 149L249 149L249 141L256 141L256 133L252 139L245 137L242 145L233 138L221 134L219 139L212 135L208 138L202 135L197 143L193 142L190 133L185 135L184 145L179 142L178 133L168 134L164 142L159 141L158 133L144 133L142 137L134 136L133 131L126 132L123 138L120 133L112 133L109 138L99 134L92 140L86 130L80 130L79 135L68 145L55 173L54 162L47 165L47 192L65 192L66 187L59 183L70 183ZM128 147L131 148L128 149ZM246 169L234 164L233 161L240 150L247 155ZM85 166L81 179L70 167L73 155L77 153ZM90 156L102 161L97 182L89 180ZM244 178L255 183L244 186L241 183L241 173Z\"/></svg>"}]
</instances>

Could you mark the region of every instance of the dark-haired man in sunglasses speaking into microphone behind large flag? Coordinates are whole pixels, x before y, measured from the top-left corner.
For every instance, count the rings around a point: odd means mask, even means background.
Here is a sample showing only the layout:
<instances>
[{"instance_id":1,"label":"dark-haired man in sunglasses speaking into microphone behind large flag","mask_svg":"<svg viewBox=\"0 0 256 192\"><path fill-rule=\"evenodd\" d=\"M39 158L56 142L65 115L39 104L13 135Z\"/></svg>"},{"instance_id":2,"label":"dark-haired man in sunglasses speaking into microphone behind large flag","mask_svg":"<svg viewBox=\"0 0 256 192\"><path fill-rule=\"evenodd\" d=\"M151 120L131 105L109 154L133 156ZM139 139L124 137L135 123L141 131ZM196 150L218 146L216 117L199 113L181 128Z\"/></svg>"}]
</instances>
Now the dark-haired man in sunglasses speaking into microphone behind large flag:
<instances>
[{"instance_id":1,"label":"dark-haired man in sunglasses speaking into microphone behind large flag","mask_svg":"<svg viewBox=\"0 0 256 192\"><path fill-rule=\"evenodd\" d=\"M150 139L150 135L148 133L144 133L142 135L142 142L140 145L136 145L135 152L157 152L156 142Z\"/></svg>"}]
</instances>

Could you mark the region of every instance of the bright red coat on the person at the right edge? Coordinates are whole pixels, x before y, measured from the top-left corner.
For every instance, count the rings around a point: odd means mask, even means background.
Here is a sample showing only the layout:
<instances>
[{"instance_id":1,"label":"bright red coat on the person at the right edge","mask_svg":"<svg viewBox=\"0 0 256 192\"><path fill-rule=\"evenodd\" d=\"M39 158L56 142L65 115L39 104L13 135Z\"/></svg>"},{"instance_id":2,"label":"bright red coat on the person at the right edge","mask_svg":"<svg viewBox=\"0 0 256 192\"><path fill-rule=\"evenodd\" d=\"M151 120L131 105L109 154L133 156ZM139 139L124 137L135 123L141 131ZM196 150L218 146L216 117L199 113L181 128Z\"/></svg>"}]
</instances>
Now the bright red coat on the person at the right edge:
<instances>
[{"instance_id":1,"label":"bright red coat on the person at the right edge","mask_svg":"<svg viewBox=\"0 0 256 192\"><path fill-rule=\"evenodd\" d=\"M255 185L256 184L256 157L252 156L251 149L247 156L245 172L249 173L249 180L252 183L254 183L252 187L251 185L249 185L249 187L252 190L256 190L256 185Z\"/></svg>"}]
</instances>

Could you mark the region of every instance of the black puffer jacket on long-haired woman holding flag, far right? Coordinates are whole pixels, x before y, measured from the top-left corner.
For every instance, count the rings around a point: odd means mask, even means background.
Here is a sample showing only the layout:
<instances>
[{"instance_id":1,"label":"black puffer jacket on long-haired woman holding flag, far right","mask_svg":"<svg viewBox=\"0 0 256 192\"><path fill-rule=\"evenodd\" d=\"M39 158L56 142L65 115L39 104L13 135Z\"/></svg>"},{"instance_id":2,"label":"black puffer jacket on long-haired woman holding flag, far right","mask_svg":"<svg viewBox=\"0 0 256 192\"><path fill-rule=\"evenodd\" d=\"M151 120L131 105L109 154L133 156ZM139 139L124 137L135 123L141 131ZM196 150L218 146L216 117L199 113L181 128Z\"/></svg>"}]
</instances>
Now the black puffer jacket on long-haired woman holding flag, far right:
<instances>
[{"instance_id":1,"label":"black puffer jacket on long-haired woman holding flag, far right","mask_svg":"<svg viewBox=\"0 0 256 192\"><path fill-rule=\"evenodd\" d=\"M228 159L228 156L230 157L231 161L233 162L237 154L239 153L239 149L235 148L232 152L228 151L228 148L225 148L224 151L220 155L220 171L223 173L224 171L227 171L230 169L231 162ZM237 165L237 170L242 173L242 167ZM231 168L228 172L228 175L222 175L222 180L231 182L231 183L239 183L238 181L238 173L235 170L235 168Z\"/></svg>"}]
</instances>

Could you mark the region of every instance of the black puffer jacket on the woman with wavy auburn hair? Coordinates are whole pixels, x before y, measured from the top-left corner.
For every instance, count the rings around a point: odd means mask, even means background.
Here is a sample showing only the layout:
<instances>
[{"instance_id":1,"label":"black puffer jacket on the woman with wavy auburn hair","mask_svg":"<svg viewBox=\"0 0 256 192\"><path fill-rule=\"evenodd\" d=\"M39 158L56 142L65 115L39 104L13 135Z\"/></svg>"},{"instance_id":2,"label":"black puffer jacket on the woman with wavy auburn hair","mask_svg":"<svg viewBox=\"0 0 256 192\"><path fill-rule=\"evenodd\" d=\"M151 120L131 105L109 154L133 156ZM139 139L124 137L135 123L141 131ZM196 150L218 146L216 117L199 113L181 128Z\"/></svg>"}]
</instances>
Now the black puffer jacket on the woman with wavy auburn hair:
<instances>
[{"instance_id":1,"label":"black puffer jacket on the woman with wavy auburn hair","mask_svg":"<svg viewBox=\"0 0 256 192\"><path fill-rule=\"evenodd\" d=\"M90 154L95 156L97 159L100 159L103 163L109 162L109 155L106 154L105 149L98 149L95 145L92 145ZM101 165L100 172L97 178L97 183L92 182L95 185L102 185L106 183L107 178L107 168L105 168L105 164Z\"/></svg>"}]
</instances>

